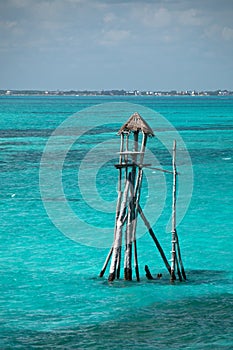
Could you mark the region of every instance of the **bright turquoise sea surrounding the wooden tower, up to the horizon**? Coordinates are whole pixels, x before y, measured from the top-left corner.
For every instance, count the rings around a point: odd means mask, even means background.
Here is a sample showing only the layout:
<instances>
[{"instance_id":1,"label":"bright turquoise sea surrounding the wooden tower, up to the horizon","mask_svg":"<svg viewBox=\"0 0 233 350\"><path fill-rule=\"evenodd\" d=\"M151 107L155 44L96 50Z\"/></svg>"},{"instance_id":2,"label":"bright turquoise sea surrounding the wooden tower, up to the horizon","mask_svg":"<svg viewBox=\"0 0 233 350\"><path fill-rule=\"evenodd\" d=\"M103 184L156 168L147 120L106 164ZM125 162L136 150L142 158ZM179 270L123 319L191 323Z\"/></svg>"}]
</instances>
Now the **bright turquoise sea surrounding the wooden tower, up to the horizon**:
<instances>
[{"instance_id":1,"label":"bright turquoise sea surrounding the wooden tower, up to the horizon","mask_svg":"<svg viewBox=\"0 0 233 350\"><path fill-rule=\"evenodd\" d=\"M119 146L125 104L156 111L184 142L177 229L185 282L170 283L146 232L140 282L98 277L111 242L101 232L113 236L117 155L102 154L98 165L92 150ZM155 134L170 135L158 121ZM169 169L170 146L149 143L155 165ZM233 97L0 96L0 150L0 349L233 349ZM182 174L190 176L183 191ZM148 219L170 258L171 179L148 171L142 202L153 183ZM163 277L148 281L145 264Z\"/></svg>"}]
</instances>

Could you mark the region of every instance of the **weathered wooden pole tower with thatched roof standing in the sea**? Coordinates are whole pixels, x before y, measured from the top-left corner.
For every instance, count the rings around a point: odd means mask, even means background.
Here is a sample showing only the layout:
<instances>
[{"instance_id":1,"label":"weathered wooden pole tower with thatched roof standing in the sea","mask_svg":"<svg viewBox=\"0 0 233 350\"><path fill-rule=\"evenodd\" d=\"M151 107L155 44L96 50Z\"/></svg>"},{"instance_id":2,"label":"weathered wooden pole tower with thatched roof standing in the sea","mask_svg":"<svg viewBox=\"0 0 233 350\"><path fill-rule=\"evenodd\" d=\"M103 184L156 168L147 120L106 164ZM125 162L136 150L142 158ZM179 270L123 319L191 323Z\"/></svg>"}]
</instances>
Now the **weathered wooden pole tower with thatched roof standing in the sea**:
<instances>
[{"instance_id":1,"label":"weathered wooden pole tower with thatched roof standing in the sea","mask_svg":"<svg viewBox=\"0 0 233 350\"><path fill-rule=\"evenodd\" d=\"M146 219L140 206L143 168L151 166L151 164L144 164L144 154L148 137L153 137L154 132L142 118L142 116L136 112L120 128L118 135L121 137L121 142L119 163L115 164L116 169L118 169L119 176L114 239L113 245L100 272L100 277L104 275L111 259L108 280L113 281L115 278L120 278L122 265L121 260L123 256L122 246L124 245L124 279L129 281L132 280L132 261L134 261L136 279L137 281L140 280L136 240L137 220L138 216L140 215L165 263L167 270L171 275L171 281L176 279L176 270L178 271L179 278L182 280L182 275L185 276L185 272L180 255L175 220L177 171L174 157L176 149L173 149L173 172L170 172L173 173L172 257L170 265L153 229L149 224L149 221ZM169 172L163 169L154 169ZM180 273L179 265L181 267L182 274ZM145 271L146 276L149 279L153 279L147 265L145 266ZM186 279L186 277L184 278Z\"/></svg>"}]
</instances>

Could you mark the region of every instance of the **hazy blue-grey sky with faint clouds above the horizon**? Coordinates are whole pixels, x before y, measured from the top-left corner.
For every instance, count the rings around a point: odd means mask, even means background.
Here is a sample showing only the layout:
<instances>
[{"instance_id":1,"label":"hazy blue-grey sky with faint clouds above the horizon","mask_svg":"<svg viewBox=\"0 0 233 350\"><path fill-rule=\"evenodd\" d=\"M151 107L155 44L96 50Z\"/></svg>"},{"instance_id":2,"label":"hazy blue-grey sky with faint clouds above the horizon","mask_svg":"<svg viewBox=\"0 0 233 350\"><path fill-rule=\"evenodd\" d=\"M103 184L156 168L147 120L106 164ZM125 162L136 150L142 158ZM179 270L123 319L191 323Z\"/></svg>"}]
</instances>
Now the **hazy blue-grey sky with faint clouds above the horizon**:
<instances>
[{"instance_id":1,"label":"hazy blue-grey sky with faint clouds above the horizon","mask_svg":"<svg viewBox=\"0 0 233 350\"><path fill-rule=\"evenodd\" d=\"M0 89L233 90L233 0L0 0Z\"/></svg>"}]
</instances>

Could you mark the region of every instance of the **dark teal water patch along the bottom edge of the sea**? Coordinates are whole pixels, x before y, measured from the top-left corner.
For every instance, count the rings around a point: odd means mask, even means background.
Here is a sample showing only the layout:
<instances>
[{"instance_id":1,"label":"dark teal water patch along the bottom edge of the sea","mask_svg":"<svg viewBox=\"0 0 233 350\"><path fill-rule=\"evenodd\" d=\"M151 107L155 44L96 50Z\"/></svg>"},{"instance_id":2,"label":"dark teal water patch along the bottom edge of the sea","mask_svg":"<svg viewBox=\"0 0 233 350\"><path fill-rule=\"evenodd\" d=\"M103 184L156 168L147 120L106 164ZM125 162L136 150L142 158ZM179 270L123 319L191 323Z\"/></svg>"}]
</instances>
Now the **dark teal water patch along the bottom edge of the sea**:
<instances>
[{"instance_id":1,"label":"dark teal water patch along the bottom edge of the sea","mask_svg":"<svg viewBox=\"0 0 233 350\"><path fill-rule=\"evenodd\" d=\"M155 303L94 325L47 332L5 330L1 348L230 350L232 307L231 294ZM41 315L41 322L46 320L46 314Z\"/></svg>"}]
</instances>

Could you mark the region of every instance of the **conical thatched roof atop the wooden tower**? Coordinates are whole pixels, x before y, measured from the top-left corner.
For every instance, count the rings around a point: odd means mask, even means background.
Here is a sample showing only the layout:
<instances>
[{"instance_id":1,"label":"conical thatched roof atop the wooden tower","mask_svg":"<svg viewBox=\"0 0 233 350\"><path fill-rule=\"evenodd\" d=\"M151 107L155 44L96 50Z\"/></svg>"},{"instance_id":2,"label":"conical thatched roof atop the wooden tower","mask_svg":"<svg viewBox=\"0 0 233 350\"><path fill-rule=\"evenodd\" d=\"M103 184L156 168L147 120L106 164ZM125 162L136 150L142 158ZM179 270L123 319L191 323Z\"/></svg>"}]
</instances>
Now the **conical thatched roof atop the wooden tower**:
<instances>
[{"instance_id":1,"label":"conical thatched roof atop the wooden tower","mask_svg":"<svg viewBox=\"0 0 233 350\"><path fill-rule=\"evenodd\" d=\"M118 135L123 132L144 132L146 135L154 136L154 132L141 115L135 112L128 121L120 128Z\"/></svg>"}]
</instances>

